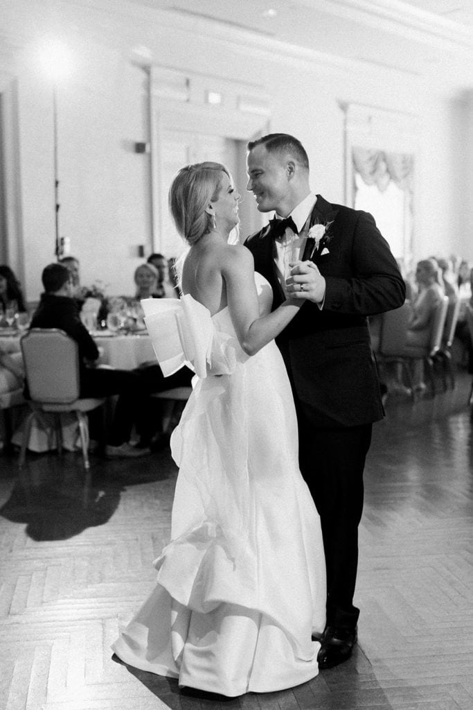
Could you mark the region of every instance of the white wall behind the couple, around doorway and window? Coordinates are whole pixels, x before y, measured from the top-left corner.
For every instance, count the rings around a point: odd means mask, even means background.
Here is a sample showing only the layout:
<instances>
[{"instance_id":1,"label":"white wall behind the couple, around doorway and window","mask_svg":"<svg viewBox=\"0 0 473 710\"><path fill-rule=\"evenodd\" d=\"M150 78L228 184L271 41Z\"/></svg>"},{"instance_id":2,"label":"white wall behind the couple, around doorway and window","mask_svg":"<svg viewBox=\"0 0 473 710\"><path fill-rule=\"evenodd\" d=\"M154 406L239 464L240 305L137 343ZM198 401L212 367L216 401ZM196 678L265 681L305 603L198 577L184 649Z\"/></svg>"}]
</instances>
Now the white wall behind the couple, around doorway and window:
<instances>
[{"instance_id":1,"label":"white wall behind the couple, around doorway and window","mask_svg":"<svg viewBox=\"0 0 473 710\"><path fill-rule=\"evenodd\" d=\"M174 19L167 26L162 13L126 2L102 0L105 9L94 9L99 0L85 4L53 4L52 12L40 0L16 0L3 12L12 47L9 71L18 77L29 300L40 293L41 269L54 261L52 94L35 63L36 43L54 33L69 43L75 58L74 71L58 90L60 234L69 237L82 263L83 283L102 280L108 293L131 293L140 263L136 246L150 244L148 158L133 153L134 141L147 139L148 120L144 73L130 62L137 45L148 46L158 64L262 87L272 105L271 129L301 138L313 188L333 202L344 196L339 102L415 114L421 131L413 256L455 251L473 261L472 207L459 210L472 189L471 138L464 148L473 120L471 97L453 101L408 75L368 73L344 60L313 60L301 52L291 58L286 46L274 53L273 46L265 49L250 38L242 43L240 35L229 43L228 35L205 29L201 21ZM0 56L0 70L1 62Z\"/></svg>"}]
</instances>

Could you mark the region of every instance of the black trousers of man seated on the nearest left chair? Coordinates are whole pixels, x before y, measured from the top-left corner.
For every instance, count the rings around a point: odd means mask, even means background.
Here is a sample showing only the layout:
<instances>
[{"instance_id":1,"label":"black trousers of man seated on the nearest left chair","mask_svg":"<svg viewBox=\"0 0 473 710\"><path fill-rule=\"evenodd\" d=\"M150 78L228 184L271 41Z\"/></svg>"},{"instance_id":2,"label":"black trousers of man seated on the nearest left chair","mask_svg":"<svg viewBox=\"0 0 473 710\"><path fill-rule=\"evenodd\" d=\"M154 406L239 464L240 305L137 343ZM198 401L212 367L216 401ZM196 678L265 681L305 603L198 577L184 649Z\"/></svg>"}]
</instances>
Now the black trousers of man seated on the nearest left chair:
<instances>
[{"instance_id":1,"label":"black trousers of man seated on the nearest left chair","mask_svg":"<svg viewBox=\"0 0 473 710\"><path fill-rule=\"evenodd\" d=\"M148 393L135 370L113 368L82 369L80 395L81 397L118 395L107 437L107 443L112 446L119 446L130 440L133 425L139 422L148 399ZM94 412L89 414L89 431L92 439L98 439L100 425Z\"/></svg>"}]
</instances>

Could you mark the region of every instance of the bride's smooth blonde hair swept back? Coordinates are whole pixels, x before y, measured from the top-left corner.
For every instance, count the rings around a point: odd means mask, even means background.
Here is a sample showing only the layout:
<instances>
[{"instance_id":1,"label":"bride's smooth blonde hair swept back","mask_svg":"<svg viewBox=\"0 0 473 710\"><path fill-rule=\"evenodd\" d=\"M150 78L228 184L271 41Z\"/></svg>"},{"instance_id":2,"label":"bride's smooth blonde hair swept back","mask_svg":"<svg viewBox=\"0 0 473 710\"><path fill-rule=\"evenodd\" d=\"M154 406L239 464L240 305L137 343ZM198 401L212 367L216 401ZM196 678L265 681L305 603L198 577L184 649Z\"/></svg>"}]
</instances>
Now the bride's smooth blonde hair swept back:
<instances>
[{"instance_id":1,"label":"bride's smooth blonde hair swept back","mask_svg":"<svg viewBox=\"0 0 473 710\"><path fill-rule=\"evenodd\" d=\"M221 163L186 165L172 181L169 190L169 212L176 229L189 246L211 231L213 218L206 212L221 190L222 173L230 178Z\"/></svg>"}]
</instances>

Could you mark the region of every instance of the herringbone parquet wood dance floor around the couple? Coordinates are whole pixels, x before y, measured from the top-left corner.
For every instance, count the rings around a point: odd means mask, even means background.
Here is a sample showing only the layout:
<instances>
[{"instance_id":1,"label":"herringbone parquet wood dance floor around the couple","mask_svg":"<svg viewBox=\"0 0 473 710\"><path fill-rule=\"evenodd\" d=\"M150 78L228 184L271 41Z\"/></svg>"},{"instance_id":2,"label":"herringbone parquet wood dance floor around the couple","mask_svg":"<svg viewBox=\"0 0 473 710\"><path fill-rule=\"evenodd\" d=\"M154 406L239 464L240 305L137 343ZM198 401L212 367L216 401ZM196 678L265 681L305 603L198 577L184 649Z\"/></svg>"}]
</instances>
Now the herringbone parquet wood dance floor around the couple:
<instances>
[{"instance_id":1,"label":"herringbone parquet wood dance floor around the couple","mask_svg":"<svg viewBox=\"0 0 473 710\"><path fill-rule=\"evenodd\" d=\"M185 697L111 655L168 540L169 454L92 457L89 481L79 454L30 454L21 476L0 454L0 709L472 710L469 386L463 375L435 400L391 398L374 427L352 659L226 702Z\"/></svg>"}]
</instances>

